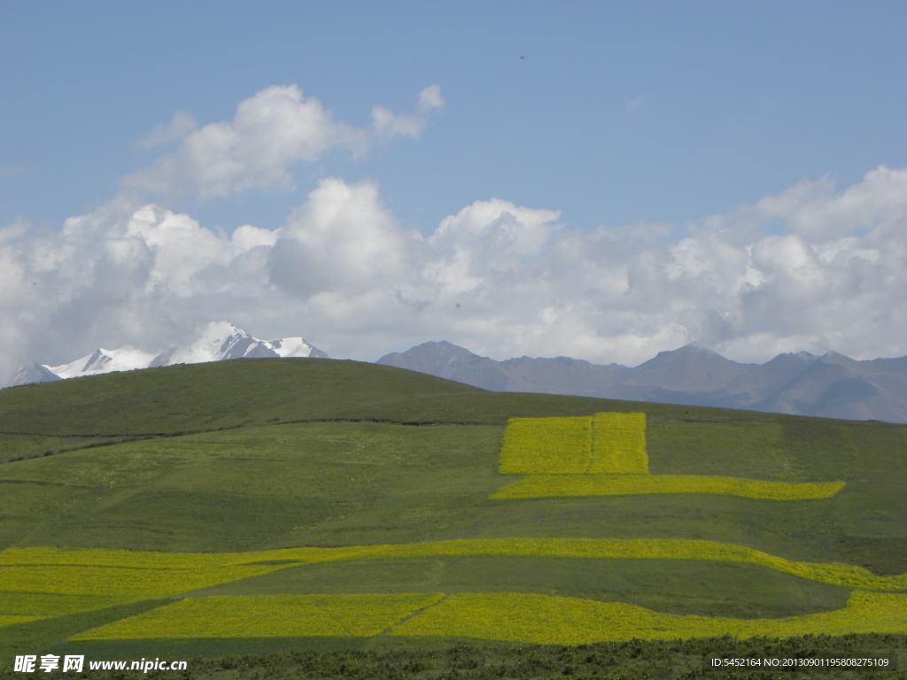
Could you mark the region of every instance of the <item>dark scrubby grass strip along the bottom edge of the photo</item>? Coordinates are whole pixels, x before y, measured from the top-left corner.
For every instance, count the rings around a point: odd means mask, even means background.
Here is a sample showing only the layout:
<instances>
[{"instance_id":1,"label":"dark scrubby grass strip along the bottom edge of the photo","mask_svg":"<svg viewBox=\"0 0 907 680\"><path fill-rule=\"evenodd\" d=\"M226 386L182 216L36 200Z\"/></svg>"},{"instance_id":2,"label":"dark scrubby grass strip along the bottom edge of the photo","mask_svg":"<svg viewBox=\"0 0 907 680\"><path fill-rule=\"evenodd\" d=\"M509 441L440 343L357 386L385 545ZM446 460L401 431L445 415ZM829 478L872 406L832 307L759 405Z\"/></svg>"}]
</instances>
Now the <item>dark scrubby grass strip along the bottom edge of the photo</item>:
<instances>
[{"instance_id":1,"label":"dark scrubby grass strip along the bottom edge of the photo","mask_svg":"<svg viewBox=\"0 0 907 680\"><path fill-rule=\"evenodd\" d=\"M328 638L307 638L310 644ZM157 677L189 675L196 680L386 680L390 677L405 680L437 680L438 678L468 677L471 680L540 680L541 678L575 677L584 680L617 680L618 678L663 678L663 680L791 680L805 677L803 673L781 671L773 673L763 667L753 669L712 669L703 662L710 656L723 658L810 659L841 655L848 658L892 654L895 660L905 649L903 636L853 635L844 637L801 636L766 639L764 637L736 640L697 638L688 641L629 640L592 645L525 645L514 643L483 644L478 641L448 643L440 640L434 646L424 643L429 638L397 638L406 641L404 648L364 648L351 641L346 648L297 649L297 638L208 638L205 647L219 658L195 658L189 673L153 673ZM270 653L249 652L256 646L270 643ZM417 646L416 643L423 643ZM82 652L99 643L81 642ZM125 641L121 644L122 658L156 655L162 658L183 658L182 650L198 642ZM219 651L218 651L219 650ZM224 650L228 653L224 656ZM241 651L238 651L241 650ZM69 674L67 674L69 675ZM152 674L149 674L152 675ZM814 670L810 680L902 680L904 672L854 669L842 673L837 668ZM49 674L50 677L61 675ZM122 680L122 671L95 671L97 680ZM2 680L14 680L22 675L0 669Z\"/></svg>"}]
</instances>

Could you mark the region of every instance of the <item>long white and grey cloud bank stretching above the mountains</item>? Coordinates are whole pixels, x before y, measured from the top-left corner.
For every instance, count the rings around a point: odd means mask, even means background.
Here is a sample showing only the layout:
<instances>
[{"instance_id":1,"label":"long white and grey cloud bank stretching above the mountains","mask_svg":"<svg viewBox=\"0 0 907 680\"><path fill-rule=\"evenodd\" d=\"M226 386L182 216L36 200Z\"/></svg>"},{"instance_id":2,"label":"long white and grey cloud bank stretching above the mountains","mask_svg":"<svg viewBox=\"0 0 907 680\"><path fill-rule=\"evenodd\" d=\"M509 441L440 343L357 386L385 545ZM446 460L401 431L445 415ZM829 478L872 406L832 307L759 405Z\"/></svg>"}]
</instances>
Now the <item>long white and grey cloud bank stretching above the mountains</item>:
<instances>
[{"instance_id":1,"label":"long white and grey cloud bank stretching above the mountains","mask_svg":"<svg viewBox=\"0 0 907 680\"><path fill-rule=\"evenodd\" d=\"M907 354L907 170L683 227L559 219L477 200L423 236L374 182L327 178L273 230L226 235L124 198L55 233L17 220L0 228L0 368L154 351L219 318L367 360L431 339L624 364L692 341L742 361Z\"/></svg>"}]
</instances>

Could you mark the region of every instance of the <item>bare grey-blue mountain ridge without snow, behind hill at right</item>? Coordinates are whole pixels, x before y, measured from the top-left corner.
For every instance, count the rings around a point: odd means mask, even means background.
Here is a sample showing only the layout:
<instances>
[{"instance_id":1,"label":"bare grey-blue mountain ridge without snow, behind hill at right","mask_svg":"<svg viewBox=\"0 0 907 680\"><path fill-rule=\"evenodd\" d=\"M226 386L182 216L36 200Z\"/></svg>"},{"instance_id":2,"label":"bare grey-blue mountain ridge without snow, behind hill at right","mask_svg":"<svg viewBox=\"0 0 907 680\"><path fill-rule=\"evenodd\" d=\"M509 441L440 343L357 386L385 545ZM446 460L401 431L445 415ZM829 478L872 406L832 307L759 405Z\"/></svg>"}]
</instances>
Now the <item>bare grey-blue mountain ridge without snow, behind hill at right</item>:
<instances>
[{"instance_id":1,"label":"bare grey-blue mountain ridge without snow, behind hill at right","mask_svg":"<svg viewBox=\"0 0 907 680\"><path fill-rule=\"evenodd\" d=\"M800 352L777 355L766 364L738 364L705 347L685 345L630 368L566 356L495 361L440 342L385 355L376 363L497 392L907 423L907 356L856 361L834 352L822 356Z\"/></svg>"}]
</instances>

